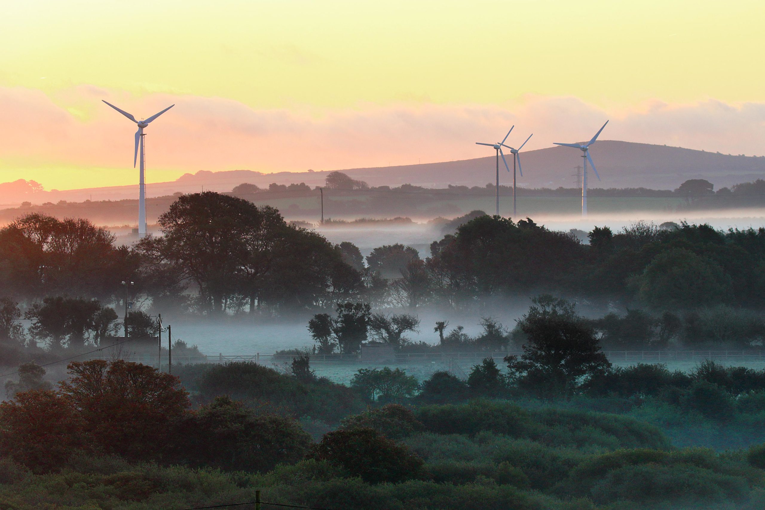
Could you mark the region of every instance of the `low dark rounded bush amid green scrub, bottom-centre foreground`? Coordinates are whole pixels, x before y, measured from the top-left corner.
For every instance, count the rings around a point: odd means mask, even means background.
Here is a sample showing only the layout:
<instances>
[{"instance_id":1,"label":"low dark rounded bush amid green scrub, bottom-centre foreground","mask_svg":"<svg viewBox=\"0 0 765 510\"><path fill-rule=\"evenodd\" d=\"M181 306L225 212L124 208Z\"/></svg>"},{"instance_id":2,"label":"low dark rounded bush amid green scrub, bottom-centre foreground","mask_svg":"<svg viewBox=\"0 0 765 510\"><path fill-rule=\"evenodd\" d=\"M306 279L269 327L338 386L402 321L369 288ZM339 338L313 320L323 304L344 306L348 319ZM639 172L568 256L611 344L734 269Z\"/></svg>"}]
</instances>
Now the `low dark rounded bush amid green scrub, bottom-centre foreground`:
<instances>
[{"instance_id":1,"label":"low dark rounded bush amid green scrub, bottom-centre foreground","mask_svg":"<svg viewBox=\"0 0 765 510\"><path fill-rule=\"evenodd\" d=\"M396 483L416 478L424 463L409 447L369 427L325 434L314 448L313 457L342 468L347 476L360 476L368 483Z\"/></svg>"}]
</instances>

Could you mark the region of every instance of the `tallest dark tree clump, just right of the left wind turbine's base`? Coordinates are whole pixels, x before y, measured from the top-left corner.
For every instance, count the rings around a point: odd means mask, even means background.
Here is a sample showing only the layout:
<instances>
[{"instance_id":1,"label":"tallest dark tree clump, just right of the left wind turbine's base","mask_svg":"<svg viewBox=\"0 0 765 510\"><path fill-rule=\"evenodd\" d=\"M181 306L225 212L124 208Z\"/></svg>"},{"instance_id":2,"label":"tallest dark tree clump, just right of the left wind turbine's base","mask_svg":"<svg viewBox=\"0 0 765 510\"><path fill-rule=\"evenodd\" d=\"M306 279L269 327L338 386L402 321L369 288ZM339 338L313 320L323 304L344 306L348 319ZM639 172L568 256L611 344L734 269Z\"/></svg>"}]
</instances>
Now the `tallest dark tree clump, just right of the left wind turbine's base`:
<instances>
[{"instance_id":1,"label":"tallest dark tree clump, just right of the left wind turbine's base","mask_svg":"<svg viewBox=\"0 0 765 510\"><path fill-rule=\"evenodd\" d=\"M159 218L163 236L137 249L151 269L199 292L200 310L249 304L310 306L353 291L360 275L324 237L288 225L278 210L220 193L179 197Z\"/></svg>"}]
</instances>

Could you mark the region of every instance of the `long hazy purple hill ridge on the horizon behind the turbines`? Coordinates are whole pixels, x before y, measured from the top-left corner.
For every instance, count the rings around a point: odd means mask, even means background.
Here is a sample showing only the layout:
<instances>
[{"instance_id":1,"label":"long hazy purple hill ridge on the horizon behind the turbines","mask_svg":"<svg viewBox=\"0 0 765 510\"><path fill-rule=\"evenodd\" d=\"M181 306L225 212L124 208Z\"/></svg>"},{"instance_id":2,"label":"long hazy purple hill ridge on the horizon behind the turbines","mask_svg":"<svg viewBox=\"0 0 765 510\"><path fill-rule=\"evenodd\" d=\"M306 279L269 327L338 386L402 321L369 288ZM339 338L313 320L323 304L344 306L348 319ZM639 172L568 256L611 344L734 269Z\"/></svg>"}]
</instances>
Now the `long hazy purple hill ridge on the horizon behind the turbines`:
<instances>
[{"instance_id":1,"label":"long hazy purple hill ridge on the horizon behind the turbines","mask_svg":"<svg viewBox=\"0 0 765 510\"><path fill-rule=\"evenodd\" d=\"M731 187L765 177L765 157L720 154L666 145L638 144L630 141L598 141L591 148L602 181L590 174L591 187L646 187L672 190L688 179L706 179L715 188ZM522 152L523 177L519 187L574 187L576 169L581 164L580 153L574 148L551 147ZM512 165L510 154L506 154ZM414 184L423 187L448 187L449 184L483 186L494 180L494 156L441 163L410 164L396 167L350 168L340 170L364 180L370 186ZM500 161L500 183L511 184ZM150 197L172 193L193 193L201 190L230 191L238 184L268 187L271 183L305 183L315 187L324 184L330 171L275 172L259 171L198 171L184 174L177 180L147 185ZM27 181L21 180L21 183ZM32 181L29 181L32 182ZM32 203L59 200L84 201L123 200L137 196L138 185L86 188L82 190L41 191L34 183L24 187L19 181L0 184L0 203L21 201ZM44 184L44 183L43 183ZM34 190L32 189L34 187Z\"/></svg>"}]
</instances>

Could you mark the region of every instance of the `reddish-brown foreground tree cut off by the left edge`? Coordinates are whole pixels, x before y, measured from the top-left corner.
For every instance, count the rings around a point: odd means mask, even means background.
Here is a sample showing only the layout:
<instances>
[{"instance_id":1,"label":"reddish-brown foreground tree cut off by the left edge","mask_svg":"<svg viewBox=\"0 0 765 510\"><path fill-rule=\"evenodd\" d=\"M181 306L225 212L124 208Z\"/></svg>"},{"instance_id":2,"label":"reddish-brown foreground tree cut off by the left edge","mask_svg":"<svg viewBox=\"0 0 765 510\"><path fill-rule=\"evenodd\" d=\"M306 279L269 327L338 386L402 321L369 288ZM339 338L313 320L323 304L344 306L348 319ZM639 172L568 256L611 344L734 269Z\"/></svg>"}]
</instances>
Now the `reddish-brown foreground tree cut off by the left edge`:
<instances>
[{"instance_id":1,"label":"reddish-brown foreground tree cut off by the left edge","mask_svg":"<svg viewBox=\"0 0 765 510\"><path fill-rule=\"evenodd\" d=\"M3 453L34 473L60 469L89 446L82 418L56 391L22 391L0 402L0 423Z\"/></svg>"}]
</instances>

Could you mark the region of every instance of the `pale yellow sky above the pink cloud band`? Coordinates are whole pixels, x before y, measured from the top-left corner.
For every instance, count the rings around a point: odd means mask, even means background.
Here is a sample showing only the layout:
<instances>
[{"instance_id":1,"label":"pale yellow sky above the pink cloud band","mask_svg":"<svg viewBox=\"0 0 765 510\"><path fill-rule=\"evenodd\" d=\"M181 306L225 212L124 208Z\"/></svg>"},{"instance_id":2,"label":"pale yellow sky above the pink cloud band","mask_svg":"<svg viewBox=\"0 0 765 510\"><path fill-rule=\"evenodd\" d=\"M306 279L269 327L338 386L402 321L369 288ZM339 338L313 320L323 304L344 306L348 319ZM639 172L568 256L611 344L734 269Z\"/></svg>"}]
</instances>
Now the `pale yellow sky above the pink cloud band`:
<instances>
[{"instance_id":1,"label":"pale yellow sky above the pink cloud band","mask_svg":"<svg viewBox=\"0 0 765 510\"><path fill-rule=\"evenodd\" d=\"M101 106L73 96L77 86L317 116L529 95L616 113L653 100L765 102L763 19L765 2L748 0L27 0L3 6L0 87L40 90L80 122ZM0 150L0 179L45 166L21 160Z\"/></svg>"}]
</instances>

